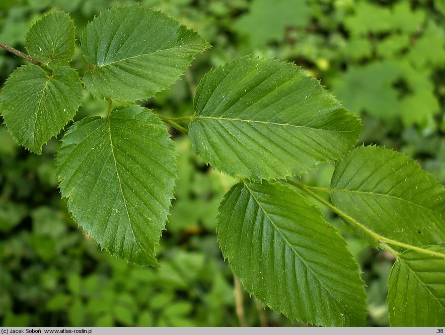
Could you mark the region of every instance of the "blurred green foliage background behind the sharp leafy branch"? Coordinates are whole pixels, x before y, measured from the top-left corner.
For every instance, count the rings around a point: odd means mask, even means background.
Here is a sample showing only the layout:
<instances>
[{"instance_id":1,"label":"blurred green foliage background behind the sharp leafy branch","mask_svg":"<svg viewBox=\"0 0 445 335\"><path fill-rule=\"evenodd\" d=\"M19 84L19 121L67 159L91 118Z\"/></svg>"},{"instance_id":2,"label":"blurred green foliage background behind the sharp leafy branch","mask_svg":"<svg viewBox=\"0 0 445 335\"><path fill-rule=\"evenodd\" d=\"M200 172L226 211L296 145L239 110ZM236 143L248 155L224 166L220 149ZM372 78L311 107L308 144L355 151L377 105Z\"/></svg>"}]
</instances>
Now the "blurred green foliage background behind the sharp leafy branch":
<instances>
[{"instance_id":1,"label":"blurred green foliage background behind the sharp leafy branch","mask_svg":"<svg viewBox=\"0 0 445 335\"><path fill-rule=\"evenodd\" d=\"M0 41L24 50L32 22L60 9L70 13L80 34L95 15L128 2L2 0ZM321 79L361 116L359 143L404 152L445 183L445 0L139 3L169 13L213 45L180 81L145 106L169 116L190 115L196 85L211 67L246 54L286 59ZM22 63L0 50L0 81ZM73 65L81 74L86 68L80 52ZM76 119L105 111L104 102L85 93ZM71 220L57 189L56 139L37 156L18 147L0 126L0 325L300 325L235 288L214 234L218 204L235 181L197 159L186 137L174 130L172 135L179 165L176 199L158 249L162 266L155 269L101 252ZM327 186L332 171L332 164L322 164L302 179ZM393 258L370 248L323 210L364 272L368 324L387 326L386 283Z\"/></svg>"}]
</instances>

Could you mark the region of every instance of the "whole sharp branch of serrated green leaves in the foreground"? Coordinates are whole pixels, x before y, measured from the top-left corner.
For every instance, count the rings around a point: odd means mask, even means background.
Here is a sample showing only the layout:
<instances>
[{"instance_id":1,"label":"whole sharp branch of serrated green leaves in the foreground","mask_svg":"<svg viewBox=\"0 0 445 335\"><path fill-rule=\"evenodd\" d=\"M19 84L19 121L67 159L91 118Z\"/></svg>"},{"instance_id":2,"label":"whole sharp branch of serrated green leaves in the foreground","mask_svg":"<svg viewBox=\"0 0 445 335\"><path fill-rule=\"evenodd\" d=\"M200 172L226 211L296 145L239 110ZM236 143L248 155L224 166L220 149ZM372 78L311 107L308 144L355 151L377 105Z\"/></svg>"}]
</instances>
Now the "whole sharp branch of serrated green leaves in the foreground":
<instances>
[{"instance_id":1,"label":"whole sharp branch of serrated green leaves in the foreground","mask_svg":"<svg viewBox=\"0 0 445 335\"><path fill-rule=\"evenodd\" d=\"M237 58L204 75L193 115L169 118L136 101L169 87L210 47L196 32L131 5L100 14L80 42L89 64L82 79L69 66L75 51L69 15L53 12L37 21L26 36L33 64L13 71L0 112L14 138L40 153L73 119L84 87L108 101L106 116L69 127L56 157L70 214L102 248L135 264L159 265L155 247L177 172L167 123L188 134L206 163L239 179L219 206L217 237L233 273L264 305L315 325L365 324L359 266L303 192L396 257L388 293L392 325L443 322L443 186L401 153L354 148L360 120L316 79L282 60ZM295 178L330 161L337 163L329 188Z\"/></svg>"}]
</instances>

